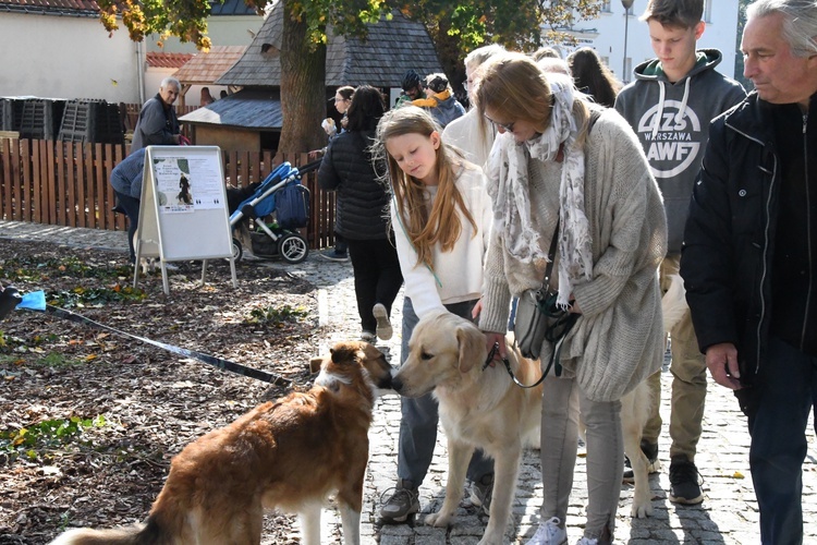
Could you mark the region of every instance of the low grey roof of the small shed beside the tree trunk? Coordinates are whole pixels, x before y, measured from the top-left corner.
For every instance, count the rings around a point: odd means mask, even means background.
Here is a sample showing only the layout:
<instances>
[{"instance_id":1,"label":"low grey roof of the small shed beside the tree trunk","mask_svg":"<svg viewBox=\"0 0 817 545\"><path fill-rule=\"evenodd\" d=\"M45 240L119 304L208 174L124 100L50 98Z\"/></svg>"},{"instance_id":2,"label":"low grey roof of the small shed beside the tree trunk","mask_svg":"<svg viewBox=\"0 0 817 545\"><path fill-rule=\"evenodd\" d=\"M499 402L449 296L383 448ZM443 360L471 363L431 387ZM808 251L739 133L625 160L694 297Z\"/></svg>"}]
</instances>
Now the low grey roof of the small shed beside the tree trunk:
<instances>
[{"instance_id":1,"label":"low grey roof of the small shed beside the tree trunk","mask_svg":"<svg viewBox=\"0 0 817 545\"><path fill-rule=\"evenodd\" d=\"M197 108L179 121L241 129L281 129L281 94L273 89L242 89Z\"/></svg>"}]
</instances>

